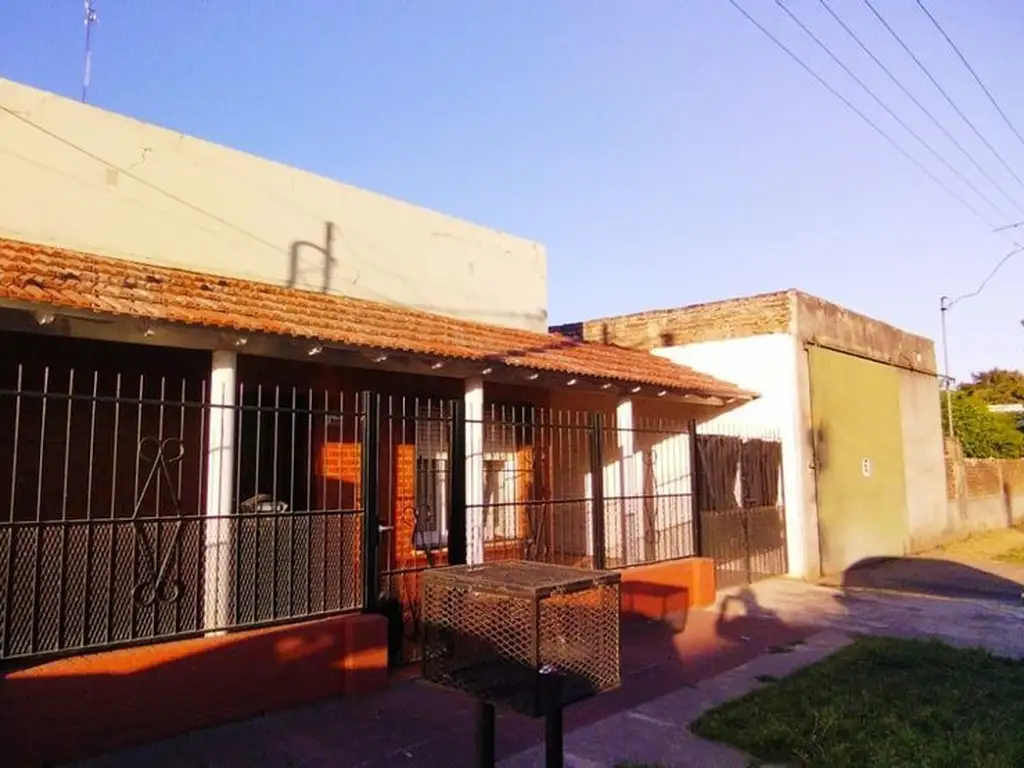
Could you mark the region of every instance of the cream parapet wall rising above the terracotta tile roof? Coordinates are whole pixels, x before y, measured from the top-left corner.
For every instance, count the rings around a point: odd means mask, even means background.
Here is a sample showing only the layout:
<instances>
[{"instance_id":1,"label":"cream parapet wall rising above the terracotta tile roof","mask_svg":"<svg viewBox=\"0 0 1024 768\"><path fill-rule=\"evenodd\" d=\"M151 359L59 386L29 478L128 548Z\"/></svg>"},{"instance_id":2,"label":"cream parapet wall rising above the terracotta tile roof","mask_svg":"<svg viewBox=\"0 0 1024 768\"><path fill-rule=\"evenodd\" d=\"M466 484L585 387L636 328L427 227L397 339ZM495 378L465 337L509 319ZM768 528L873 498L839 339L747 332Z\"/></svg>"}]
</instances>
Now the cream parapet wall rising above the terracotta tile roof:
<instances>
[{"instance_id":1,"label":"cream parapet wall rising above the terracotta tile roof","mask_svg":"<svg viewBox=\"0 0 1024 768\"><path fill-rule=\"evenodd\" d=\"M2 79L0 237L548 325L539 244Z\"/></svg>"}]
</instances>

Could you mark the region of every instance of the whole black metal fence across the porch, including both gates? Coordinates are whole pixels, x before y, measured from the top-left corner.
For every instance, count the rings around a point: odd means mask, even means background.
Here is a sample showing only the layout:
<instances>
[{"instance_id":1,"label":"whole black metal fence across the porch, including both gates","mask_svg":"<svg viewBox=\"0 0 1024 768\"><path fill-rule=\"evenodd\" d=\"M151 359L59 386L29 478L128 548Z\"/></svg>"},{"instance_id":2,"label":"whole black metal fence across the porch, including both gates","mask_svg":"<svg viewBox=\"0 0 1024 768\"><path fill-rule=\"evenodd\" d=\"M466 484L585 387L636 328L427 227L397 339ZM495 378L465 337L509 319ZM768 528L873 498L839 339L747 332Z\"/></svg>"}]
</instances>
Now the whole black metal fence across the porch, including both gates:
<instances>
[{"instance_id":1,"label":"whole black metal fence across the porch, including both gates","mask_svg":"<svg viewBox=\"0 0 1024 768\"><path fill-rule=\"evenodd\" d=\"M467 558L784 569L764 435L208 376L0 367L0 659L362 607L406 655Z\"/></svg>"}]
</instances>

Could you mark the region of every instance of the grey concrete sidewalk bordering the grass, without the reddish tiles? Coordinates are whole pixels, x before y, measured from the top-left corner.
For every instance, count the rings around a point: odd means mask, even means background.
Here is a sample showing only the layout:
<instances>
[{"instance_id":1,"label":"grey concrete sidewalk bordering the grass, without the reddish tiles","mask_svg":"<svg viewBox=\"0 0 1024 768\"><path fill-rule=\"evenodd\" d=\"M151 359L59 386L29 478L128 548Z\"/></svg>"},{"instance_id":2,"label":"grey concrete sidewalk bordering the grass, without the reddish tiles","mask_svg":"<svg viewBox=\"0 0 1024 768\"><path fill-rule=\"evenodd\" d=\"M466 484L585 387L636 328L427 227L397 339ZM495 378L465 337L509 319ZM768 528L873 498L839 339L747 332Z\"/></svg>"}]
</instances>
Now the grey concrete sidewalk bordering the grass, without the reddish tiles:
<instances>
[{"instance_id":1,"label":"grey concrete sidewalk bordering the grass, without the reddish tiles","mask_svg":"<svg viewBox=\"0 0 1024 768\"><path fill-rule=\"evenodd\" d=\"M779 579L726 592L719 597L719 623L757 631L755 622L820 628L791 652L767 653L695 688L683 688L566 736L566 764L611 768L632 761L672 768L745 768L752 758L694 736L688 726L703 713L781 678L845 647L855 634L934 637L950 645L983 647L1024 658L1024 607L994 601L943 599L858 590L855 593ZM745 625L743 623L746 623ZM535 746L505 760L502 768L536 768Z\"/></svg>"}]
</instances>

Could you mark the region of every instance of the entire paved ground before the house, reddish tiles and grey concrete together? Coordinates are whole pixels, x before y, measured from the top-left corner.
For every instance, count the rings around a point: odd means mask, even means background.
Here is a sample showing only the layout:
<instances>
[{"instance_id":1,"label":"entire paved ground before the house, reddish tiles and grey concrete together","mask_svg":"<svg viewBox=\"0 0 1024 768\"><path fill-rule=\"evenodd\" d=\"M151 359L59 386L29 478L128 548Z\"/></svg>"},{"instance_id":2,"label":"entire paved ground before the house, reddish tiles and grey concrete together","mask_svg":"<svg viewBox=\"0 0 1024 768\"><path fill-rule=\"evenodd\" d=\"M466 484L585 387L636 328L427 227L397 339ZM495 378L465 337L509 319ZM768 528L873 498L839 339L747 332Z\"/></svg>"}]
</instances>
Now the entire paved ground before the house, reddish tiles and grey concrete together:
<instances>
[{"instance_id":1,"label":"entire paved ground before the house, reddish tiles and grey concrete together","mask_svg":"<svg viewBox=\"0 0 1024 768\"><path fill-rule=\"evenodd\" d=\"M933 636L1024 657L1024 606L844 592L780 579L723 595L717 610L691 611L681 633L658 623L631 625L624 633L623 688L566 714L568 764L595 768L630 759L671 766L745 765L745 758L700 741L686 725L705 710L750 690L759 675L792 672L841 647L855 633ZM794 652L767 652L779 648ZM77 766L458 768L471 764L471 722L465 698L410 682L380 694L197 731ZM506 768L543 764L541 723L502 715L498 735Z\"/></svg>"}]
</instances>

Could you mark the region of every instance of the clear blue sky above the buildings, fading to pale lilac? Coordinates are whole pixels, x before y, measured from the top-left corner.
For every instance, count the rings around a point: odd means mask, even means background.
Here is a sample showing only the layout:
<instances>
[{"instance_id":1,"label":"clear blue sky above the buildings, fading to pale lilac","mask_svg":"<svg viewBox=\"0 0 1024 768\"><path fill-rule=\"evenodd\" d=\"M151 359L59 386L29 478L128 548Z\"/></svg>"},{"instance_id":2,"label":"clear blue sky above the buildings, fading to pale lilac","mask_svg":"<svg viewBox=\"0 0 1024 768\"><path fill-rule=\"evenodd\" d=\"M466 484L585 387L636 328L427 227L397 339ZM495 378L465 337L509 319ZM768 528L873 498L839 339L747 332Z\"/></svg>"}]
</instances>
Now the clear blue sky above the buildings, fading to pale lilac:
<instances>
[{"instance_id":1,"label":"clear blue sky above the buildings, fading to pale lilac","mask_svg":"<svg viewBox=\"0 0 1024 768\"><path fill-rule=\"evenodd\" d=\"M800 288L939 334L993 234L726 0L94 0L89 100L543 242L552 323ZM768 0L742 4L996 223ZM910 0L873 0L1024 178L1019 140ZM830 0L1024 203L860 0ZM1024 133L1024 6L927 3ZM998 194L816 0L788 6L921 136ZM78 0L0 6L0 76L78 97ZM1019 230L1024 243L1024 227ZM1024 368L1024 254L949 313L954 375Z\"/></svg>"}]
</instances>

